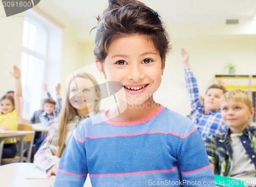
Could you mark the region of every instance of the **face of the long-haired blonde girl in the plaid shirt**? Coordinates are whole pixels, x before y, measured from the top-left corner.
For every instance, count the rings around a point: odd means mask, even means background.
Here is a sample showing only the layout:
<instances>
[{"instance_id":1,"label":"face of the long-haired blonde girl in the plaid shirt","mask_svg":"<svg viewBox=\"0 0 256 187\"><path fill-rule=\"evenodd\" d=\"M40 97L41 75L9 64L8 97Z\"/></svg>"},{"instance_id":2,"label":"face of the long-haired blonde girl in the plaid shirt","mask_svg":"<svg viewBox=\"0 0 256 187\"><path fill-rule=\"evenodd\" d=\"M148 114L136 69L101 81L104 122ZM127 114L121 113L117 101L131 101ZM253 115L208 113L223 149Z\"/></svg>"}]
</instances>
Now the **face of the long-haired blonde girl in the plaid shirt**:
<instances>
[{"instance_id":1,"label":"face of the long-haired blonde girl in the plaid shirt","mask_svg":"<svg viewBox=\"0 0 256 187\"><path fill-rule=\"evenodd\" d=\"M89 111L93 111L95 101L99 100L99 93L96 92L92 81L82 77L75 77L69 86L69 100L77 110L88 108Z\"/></svg>"}]
</instances>

